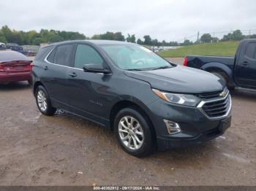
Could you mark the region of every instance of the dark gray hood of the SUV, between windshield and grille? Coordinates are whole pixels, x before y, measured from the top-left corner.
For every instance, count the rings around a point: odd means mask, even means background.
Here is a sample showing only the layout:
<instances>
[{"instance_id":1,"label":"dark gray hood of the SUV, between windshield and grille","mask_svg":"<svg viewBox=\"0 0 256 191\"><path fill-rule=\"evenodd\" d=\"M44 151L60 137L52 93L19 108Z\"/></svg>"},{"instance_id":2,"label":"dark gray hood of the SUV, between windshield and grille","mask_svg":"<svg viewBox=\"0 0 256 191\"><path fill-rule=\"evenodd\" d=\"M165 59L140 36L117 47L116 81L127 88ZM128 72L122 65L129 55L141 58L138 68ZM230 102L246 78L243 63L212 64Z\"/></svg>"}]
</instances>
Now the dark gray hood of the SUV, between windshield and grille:
<instances>
[{"instance_id":1,"label":"dark gray hood of the SUV, between windshield and grille","mask_svg":"<svg viewBox=\"0 0 256 191\"><path fill-rule=\"evenodd\" d=\"M225 82L199 69L176 66L151 71L124 71L128 77L151 84L152 88L173 93L210 93L222 91Z\"/></svg>"}]
</instances>

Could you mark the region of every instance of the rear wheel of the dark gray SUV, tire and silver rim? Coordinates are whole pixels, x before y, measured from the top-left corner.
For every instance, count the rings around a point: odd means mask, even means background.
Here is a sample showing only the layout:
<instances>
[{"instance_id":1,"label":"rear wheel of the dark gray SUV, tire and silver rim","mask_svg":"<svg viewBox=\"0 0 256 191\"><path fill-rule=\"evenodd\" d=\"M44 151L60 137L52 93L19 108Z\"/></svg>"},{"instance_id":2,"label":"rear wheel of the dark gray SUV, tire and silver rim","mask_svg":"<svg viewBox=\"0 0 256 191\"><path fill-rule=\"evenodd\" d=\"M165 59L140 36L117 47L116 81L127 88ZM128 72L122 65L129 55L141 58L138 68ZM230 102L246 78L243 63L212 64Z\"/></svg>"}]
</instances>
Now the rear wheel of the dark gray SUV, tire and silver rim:
<instances>
[{"instance_id":1,"label":"rear wheel of the dark gray SUV, tire and silver rim","mask_svg":"<svg viewBox=\"0 0 256 191\"><path fill-rule=\"evenodd\" d=\"M35 97L37 101L37 108L42 114L52 116L56 112L56 108L53 108L50 104L50 98L45 87L39 85L35 92Z\"/></svg>"}]
</instances>

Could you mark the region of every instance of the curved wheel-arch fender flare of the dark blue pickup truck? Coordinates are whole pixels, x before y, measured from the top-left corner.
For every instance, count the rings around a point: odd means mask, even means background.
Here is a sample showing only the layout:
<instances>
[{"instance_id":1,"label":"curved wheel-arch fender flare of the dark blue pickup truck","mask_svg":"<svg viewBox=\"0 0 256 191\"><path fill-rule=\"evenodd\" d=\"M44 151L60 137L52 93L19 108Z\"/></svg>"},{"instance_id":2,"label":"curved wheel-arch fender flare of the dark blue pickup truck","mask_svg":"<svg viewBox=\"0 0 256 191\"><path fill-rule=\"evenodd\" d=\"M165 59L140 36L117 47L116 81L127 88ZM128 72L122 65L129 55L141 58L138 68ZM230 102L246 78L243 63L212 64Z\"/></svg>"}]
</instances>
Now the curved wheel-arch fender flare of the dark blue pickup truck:
<instances>
[{"instance_id":1,"label":"curved wheel-arch fender flare of the dark blue pickup truck","mask_svg":"<svg viewBox=\"0 0 256 191\"><path fill-rule=\"evenodd\" d=\"M227 74L229 85L234 85L233 71L223 63L218 63L218 62L206 63L200 69L202 69L204 71L209 71L209 70L214 70L214 69L216 69L217 71L223 71L223 72L225 72L225 74Z\"/></svg>"}]
</instances>

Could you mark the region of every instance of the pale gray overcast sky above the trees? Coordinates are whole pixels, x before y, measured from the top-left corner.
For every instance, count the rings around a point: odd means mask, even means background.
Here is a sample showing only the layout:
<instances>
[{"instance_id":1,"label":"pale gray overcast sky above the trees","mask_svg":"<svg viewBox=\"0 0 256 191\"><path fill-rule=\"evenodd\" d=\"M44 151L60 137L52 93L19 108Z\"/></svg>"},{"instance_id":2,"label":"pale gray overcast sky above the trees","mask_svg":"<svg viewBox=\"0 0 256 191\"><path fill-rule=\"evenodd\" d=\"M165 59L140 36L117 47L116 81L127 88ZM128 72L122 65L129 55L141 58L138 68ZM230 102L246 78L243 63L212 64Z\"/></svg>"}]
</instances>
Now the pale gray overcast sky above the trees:
<instances>
[{"instance_id":1,"label":"pale gray overcast sky above the trees","mask_svg":"<svg viewBox=\"0 0 256 191\"><path fill-rule=\"evenodd\" d=\"M256 29L255 0L1 0L0 26L181 41L203 32ZM254 31L256 34L256 30Z\"/></svg>"}]
</instances>

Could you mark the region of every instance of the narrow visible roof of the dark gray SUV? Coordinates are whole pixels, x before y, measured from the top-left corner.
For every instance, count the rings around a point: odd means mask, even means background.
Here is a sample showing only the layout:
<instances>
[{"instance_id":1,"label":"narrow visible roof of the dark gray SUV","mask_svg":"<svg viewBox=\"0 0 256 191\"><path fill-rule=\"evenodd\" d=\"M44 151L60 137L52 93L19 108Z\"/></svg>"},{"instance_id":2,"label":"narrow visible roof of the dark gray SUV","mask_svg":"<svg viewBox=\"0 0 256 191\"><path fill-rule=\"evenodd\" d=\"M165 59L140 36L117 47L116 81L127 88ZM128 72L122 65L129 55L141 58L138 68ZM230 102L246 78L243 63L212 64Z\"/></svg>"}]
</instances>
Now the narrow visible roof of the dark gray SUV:
<instances>
[{"instance_id":1,"label":"narrow visible roof of the dark gray SUV","mask_svg":"<svg viewBox=\"0 0 256 191\"><path fill-rule=\"evenodd\" d=\"M124 41L114 41L114 40L72 40L72 41L64 41L64 42L56 42L53 44L48 44L48 46L53 46L53 45L59 45L59 44L66 44L69 42L89 42L91 44L96 44L96 45L110 45L110 44L133 44L130 42L124 42Z\"/></svg>"}]
</instances>

